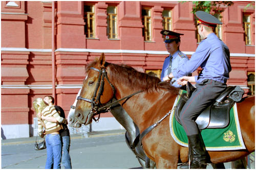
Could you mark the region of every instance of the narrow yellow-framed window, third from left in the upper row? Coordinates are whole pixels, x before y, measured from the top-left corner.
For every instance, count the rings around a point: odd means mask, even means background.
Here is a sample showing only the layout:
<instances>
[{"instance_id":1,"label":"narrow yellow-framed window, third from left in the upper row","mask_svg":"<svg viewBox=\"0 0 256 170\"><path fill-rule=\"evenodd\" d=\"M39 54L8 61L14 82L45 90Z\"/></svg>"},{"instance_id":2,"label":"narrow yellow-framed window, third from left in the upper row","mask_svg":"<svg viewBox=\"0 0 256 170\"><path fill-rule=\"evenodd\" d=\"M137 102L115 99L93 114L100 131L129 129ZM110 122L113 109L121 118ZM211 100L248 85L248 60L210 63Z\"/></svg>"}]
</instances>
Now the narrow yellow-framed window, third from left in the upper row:
<instances>
[{"instance_id":1,"label":"narrow yellow-framed window, third from left in the upper row","mask_svg":"<svg viewBox=\"0 0 256 170\"><path fill-rule=\"evenodd\" d=\"M151 10L142 9L143 37L145 41L151 41Z\"/></svg>"}]
</instances>

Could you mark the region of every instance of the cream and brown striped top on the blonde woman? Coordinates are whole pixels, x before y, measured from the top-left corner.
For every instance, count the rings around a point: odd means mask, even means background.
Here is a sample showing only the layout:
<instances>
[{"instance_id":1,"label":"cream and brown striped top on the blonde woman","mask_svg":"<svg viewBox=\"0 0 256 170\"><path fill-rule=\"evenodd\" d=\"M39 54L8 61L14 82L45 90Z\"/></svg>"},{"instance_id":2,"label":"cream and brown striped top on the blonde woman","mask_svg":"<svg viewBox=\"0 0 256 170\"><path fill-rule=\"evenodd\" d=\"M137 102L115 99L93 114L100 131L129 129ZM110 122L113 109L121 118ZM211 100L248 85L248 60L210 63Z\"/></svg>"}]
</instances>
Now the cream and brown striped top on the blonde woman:
<instances>
[{"instance_id":1,"label":"cream and brown striped top on the blonde woman","mask_svg":"<svg viewBox=\"0 0 256 170\"><path fill-rule=\"evenodd\" d=\"M56 111L54 106L47 106L44 110L42 110L42 115L44 116L53 116L56 118L58 123L48 122L47 120L43 120L46 125L46 134L51 134L53 132L58 132L61 128L59 124L66 123L66 119L59 116L59 113ZM42 134L42 125L40 120L38 119L38 133Z\"/></svg>"}]
</instances>

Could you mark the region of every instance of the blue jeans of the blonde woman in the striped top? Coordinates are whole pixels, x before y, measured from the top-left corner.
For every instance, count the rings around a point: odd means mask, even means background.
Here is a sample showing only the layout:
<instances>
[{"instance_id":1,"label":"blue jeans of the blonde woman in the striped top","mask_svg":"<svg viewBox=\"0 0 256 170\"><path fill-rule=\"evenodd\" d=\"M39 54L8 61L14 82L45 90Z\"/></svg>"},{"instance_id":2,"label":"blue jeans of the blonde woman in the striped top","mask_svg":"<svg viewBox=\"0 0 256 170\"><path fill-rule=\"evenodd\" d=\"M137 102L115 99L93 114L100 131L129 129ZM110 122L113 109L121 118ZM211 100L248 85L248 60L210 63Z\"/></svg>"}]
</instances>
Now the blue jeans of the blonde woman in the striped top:
<instances>
[{"instance_id":1,"label":"blue jeans of the blonde woman in the striped top","mask_svg":"<svg viewBox=\"0 0 256 170\"><path fill-rule=\"evenodd\" d=\"M60 169L61 161L61 139L60 135L46 135L46 169ZM53 166L52 166L53 165Z\"/></svg>"}]
</instances>

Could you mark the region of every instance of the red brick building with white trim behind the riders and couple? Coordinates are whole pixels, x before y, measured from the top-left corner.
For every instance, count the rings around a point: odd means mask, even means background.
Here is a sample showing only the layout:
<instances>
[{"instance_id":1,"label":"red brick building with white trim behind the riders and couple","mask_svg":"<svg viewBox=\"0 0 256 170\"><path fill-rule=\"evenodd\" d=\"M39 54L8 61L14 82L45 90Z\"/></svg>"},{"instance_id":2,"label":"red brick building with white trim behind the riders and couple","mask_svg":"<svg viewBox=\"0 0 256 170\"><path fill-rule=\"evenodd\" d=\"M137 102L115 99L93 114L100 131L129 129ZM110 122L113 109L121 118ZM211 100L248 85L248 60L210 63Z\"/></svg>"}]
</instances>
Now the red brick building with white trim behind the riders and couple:
<instances>
[{"instance_id":1,"label":"red brick building with white trim behind the riders and couple","mask_svg":"<svg viewBox=\"0 0 256 170\"><path fill-rule=\"evenodd\" d=\"M191 2L60 1L54 4L54 16L51 2L1 3L2 138L33 135L35 98L54 95L68 115L84 66L102 52L108 62L159 75L168 55L162 29L184 34L180 50L188 56L198 45ZM251 2L233 3L222 7L223 25L217 30L231 53L228 84L254 93L254 8L245 8ZM102 115L93 130L120 128L117 123L108 127L113 119Z\"/></svg>"}]
</instances>

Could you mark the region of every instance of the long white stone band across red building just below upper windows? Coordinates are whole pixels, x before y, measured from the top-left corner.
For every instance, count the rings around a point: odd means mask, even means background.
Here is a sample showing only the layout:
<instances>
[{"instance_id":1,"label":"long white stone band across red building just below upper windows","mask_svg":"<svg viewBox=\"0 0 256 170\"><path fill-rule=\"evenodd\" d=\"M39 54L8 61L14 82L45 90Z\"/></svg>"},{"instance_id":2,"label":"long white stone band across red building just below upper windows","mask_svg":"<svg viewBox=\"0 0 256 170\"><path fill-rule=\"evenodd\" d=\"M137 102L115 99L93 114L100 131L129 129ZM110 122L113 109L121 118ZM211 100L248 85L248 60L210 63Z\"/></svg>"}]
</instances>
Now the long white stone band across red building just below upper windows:
<instances>
[{"instance_id":1,"label":"long white stone band across red building just below upper windows","mask_svg":"<svg viewBox=\"0 0 256 170\"><path fill-rule=\"evenodd\" d=\"M22 51L22 52L52 52L51 49L35 49L35 48L14 48L2 47L2 51ZM167 51L149 51L149 50L100 50L87 48L58 48L55 52L88 52L88 53L130 53L130 54L159 54L168 55ZM195 52L184 52L186 55L192 55ZM231 57L255 57L255 54L246 53L230 53Z\"/></svg>"}]
</instances>

